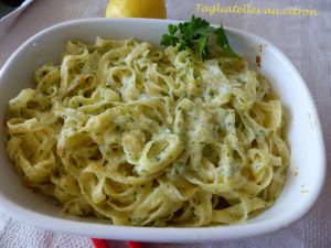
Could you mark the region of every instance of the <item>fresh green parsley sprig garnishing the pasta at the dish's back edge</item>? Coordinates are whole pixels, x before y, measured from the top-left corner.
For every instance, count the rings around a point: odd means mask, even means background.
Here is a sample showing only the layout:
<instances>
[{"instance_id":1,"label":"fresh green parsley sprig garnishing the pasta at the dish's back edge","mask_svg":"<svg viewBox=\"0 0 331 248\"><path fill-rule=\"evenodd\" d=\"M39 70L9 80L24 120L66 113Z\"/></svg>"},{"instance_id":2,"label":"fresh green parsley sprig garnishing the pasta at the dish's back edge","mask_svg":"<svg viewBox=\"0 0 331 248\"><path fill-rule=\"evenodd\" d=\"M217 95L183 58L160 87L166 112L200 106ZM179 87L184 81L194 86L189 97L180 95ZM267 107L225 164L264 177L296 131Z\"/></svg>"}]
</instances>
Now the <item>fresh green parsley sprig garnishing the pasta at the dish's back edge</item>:
<instances>
[{"instance_id":1,"label":"fresh green parsley sprig garnishing the pasta at the dish's back edge","mask_svg":"<svg viewBox=\"0 0 331 248\"><path fill-rule=\"evenodd\" d=\"M170 24L168 31L169 33L163 34L161 39L161 45L178 45L179 51L193 50L204 61L210 54L209 41L214 36L215 43L225 56L239 57L229 46L223 25L213 28L207 21L192 15L190 22L181 22L178 25Z\"/></svg>"}]
</instances>

